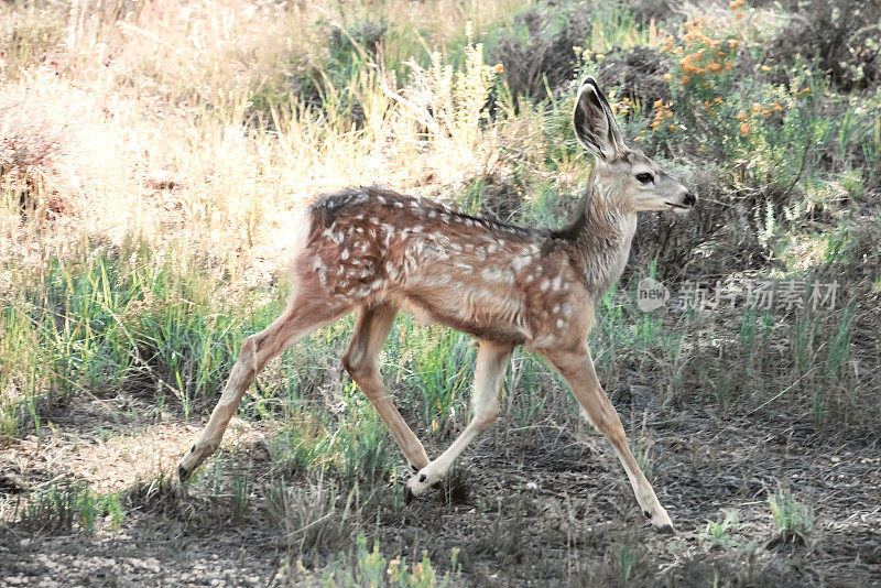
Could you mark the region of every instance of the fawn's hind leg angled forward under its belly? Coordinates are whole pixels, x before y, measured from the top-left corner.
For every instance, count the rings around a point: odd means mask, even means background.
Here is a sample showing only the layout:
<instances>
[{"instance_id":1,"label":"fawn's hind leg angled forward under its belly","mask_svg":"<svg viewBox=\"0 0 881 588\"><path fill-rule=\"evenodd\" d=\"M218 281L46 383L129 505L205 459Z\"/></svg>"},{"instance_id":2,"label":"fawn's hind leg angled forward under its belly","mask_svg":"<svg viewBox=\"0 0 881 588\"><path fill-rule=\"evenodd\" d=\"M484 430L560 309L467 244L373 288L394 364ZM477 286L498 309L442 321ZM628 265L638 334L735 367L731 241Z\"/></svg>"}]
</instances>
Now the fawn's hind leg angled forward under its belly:
<instances>
[{"instance_id":1,"label":"fawn's hind leg angled forward under its belly","mask_svg":"<svg viewBox=\"0 0 881 588\"><path fill-rule=\"evenodd\" d=\"M373 403L410 466L418 470L428 465L425 447L395 409L379 372L379 352L396 314L398 308L389 304L361 308L342 366Z\"/></svg>"}]
</instances>

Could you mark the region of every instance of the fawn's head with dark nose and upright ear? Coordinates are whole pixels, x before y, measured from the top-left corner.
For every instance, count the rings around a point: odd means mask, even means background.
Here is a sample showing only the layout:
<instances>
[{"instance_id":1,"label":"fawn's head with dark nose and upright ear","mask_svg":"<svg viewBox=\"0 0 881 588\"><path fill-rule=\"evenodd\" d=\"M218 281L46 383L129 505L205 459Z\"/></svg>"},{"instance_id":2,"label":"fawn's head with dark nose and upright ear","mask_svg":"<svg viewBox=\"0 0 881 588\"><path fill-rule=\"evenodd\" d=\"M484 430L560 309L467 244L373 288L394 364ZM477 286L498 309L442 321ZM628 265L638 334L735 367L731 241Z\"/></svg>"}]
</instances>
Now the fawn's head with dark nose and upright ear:
<instances>
[{"instance_id":1,"label":"fawn's head with dark nose and upright ear","mask_svg":"<svg viewBox=\"0 0 881 588\"><path fill-rule=\"evenodd\" d=\"M611 107L591 76L581 81L573 126L578 142L597 156L595 194L607 206L626 213L685 213L697 202L642 151L624 144Z\"/></svg>"}]
</instances>

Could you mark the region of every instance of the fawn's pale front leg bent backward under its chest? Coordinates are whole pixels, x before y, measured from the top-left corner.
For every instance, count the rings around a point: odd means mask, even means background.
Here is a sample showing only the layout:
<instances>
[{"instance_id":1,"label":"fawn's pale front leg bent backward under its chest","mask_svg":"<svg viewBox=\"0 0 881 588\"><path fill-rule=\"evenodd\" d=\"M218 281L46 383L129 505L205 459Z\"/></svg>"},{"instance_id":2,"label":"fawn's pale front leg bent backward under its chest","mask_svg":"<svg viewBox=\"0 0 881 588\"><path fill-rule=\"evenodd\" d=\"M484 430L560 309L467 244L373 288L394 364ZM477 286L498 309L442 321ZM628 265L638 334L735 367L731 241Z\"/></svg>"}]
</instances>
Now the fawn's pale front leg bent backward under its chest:
<instances>
[{"instance_id":1,"label":"fawn's pale front leg bent backward under its chest","mask_svg":"<svg viewBox=\"0 0 881 588\"><path fill-rule=\"evenodd\" d=\"M471 401L474 417L446 451L406 482L406 488L412 496L422 494L428 487L442 480L449 466L461 455L468 444L492 424L499 414L502 382L511 351L513 348L508 345L480 341L477 351L477 369L475 370L475 392Z\"/></svg>"}]
</instances>

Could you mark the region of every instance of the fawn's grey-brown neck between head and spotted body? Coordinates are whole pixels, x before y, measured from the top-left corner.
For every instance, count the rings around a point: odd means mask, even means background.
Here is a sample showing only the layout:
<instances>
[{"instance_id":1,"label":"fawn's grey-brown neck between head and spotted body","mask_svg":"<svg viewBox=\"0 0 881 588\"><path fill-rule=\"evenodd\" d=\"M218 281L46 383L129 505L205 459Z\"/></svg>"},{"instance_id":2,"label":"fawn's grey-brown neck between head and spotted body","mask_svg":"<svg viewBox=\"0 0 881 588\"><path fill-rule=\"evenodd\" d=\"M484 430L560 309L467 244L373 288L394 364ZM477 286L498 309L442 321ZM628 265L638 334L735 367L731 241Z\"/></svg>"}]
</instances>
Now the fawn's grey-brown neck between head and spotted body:
<instances>
[{"instance_id":1,"label":"fawn's grey-brown neck between head and spotted body","mask_svg":"<svg viewBox=\"0 0 881 588\"><path fill-rule=\"evenodd\" d=\"M573 246L581 280L597 297L621 277L637 229L637 215L609 207L602 189L591 182L575 218L563 231Z\"/></svg>"}]
</instances>

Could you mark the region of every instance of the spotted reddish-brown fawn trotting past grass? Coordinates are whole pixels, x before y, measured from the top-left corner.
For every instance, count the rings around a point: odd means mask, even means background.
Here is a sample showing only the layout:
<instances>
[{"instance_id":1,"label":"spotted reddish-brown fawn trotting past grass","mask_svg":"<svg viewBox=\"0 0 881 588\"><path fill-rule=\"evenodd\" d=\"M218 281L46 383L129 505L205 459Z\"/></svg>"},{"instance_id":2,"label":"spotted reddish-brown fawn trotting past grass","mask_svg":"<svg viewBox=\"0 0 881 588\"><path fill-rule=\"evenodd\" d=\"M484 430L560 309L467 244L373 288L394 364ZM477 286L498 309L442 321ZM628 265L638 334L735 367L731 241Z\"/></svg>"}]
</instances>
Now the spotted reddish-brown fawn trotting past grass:
<instances>
[{"instance_id":1,"label":"spotted reddish-brown fawn trotting past grass","mask_svg":"<svg viewBox=\"0 0 881 588\"><path fill-rule=\"evenodd\" d=\"M573 126L596 163L584 197L559 230L524 228L378 186L318 198L294 229L294 281L284 313L249 336L202 435L178 465L181 483L219 446L242 395L273 357L318 327L357 312L342 367L376 407L410 464L405 492L442 481L500 411L515 347L544 356L566 380L588 422L611 443L651 524L673 523L628 447L594 370L587 336L595 306L621 276L637 215L685 213L695 196L621 137L596 79L577 91ZM379 356L399 312L477 339L472 415L435 459L398 412Z\"/></svg>"}]
</instances>

